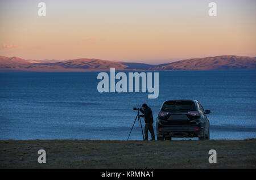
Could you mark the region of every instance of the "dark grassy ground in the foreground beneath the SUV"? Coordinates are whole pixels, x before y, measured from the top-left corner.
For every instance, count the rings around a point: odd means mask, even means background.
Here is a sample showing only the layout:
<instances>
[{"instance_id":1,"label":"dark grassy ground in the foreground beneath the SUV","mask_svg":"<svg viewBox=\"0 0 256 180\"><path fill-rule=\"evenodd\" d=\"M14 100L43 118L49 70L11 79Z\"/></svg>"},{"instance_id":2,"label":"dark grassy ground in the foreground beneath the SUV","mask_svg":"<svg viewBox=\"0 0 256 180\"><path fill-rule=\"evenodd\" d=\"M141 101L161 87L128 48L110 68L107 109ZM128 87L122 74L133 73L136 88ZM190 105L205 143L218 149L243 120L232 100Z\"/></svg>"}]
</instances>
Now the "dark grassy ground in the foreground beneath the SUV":
<instances>
[{"instance_id":1,"label":"dark grassy ground in the foreground beneath the SUV","mask_svg":"<svg viewBox=\"0 0 256 180\"><path fill-rule=\"evenodd\" d=\"M46 164L38 163L38 150ZM217 151L209 164L208 152ZM0 140L0 168L255 168L256 139Z\"/></svg>"}]
</instances>

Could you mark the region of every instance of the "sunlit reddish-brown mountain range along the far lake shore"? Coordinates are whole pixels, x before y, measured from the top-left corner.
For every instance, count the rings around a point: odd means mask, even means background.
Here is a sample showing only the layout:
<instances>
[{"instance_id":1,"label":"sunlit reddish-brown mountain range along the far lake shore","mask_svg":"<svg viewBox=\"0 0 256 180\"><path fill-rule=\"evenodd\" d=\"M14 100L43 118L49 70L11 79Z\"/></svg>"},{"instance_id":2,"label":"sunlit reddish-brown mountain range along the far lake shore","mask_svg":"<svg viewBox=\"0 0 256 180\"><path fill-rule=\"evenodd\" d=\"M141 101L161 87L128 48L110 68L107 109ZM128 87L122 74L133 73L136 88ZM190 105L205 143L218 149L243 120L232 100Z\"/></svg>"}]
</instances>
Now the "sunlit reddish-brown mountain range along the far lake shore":
<instances>
[{"instance_id":1,"label":"sunlit reddish-brown mountain range along the far lake shore","mask_svg":"<svg viewBox=\"0 0 256 180\"><path fill-rule=\"evenodd\" d=\"M176 71L176 70L256 70L256 58L237 55L193 58L162 65L106 61L101 59L72 60L25 60L17 57L0 56L0 71Z\"/></svg>"}]
</instances>

